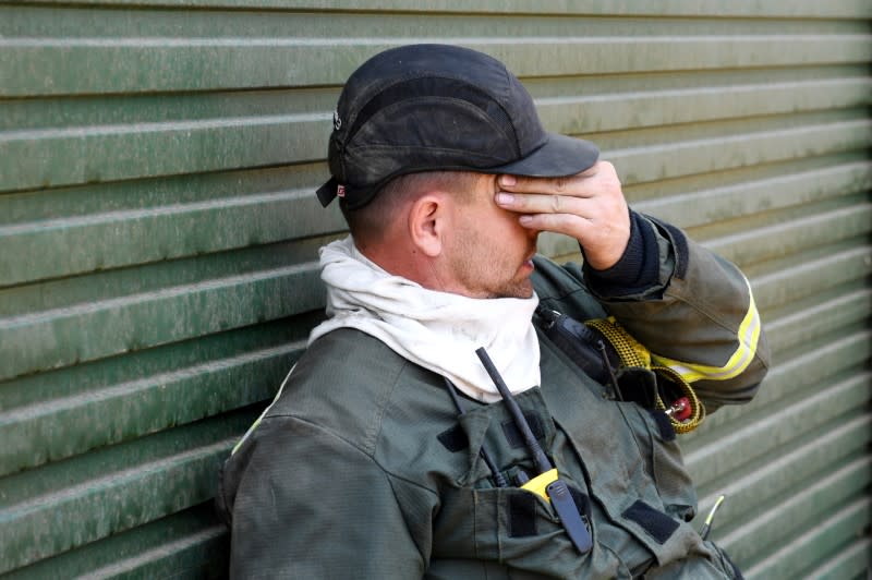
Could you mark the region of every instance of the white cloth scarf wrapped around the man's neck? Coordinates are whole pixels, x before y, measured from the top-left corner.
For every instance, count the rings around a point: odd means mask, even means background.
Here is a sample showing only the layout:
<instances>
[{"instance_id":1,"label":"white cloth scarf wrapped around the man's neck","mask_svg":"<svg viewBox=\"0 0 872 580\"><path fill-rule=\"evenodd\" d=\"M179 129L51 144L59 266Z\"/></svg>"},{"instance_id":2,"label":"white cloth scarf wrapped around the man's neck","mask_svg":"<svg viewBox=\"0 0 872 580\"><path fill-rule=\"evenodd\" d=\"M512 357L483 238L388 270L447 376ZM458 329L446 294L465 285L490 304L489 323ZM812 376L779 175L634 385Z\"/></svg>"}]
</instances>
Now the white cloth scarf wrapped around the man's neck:
<instances>
[{"instance_id":1,"label":"white cloth scarf wrapped around the man's neck","mask_svg":"<svg viewBox=\"0 0 872 580\"><path fill-rule=\"evenodd\" d=\"M427 290L386 273L354 247L351 237L322 247L320 266L330 317L312 330L310 343L337 328L356 328L484 402L500 397L475 354L480 347L512 392L540 384L535 294L473 299Z\"/></svg>"}]
</instances>

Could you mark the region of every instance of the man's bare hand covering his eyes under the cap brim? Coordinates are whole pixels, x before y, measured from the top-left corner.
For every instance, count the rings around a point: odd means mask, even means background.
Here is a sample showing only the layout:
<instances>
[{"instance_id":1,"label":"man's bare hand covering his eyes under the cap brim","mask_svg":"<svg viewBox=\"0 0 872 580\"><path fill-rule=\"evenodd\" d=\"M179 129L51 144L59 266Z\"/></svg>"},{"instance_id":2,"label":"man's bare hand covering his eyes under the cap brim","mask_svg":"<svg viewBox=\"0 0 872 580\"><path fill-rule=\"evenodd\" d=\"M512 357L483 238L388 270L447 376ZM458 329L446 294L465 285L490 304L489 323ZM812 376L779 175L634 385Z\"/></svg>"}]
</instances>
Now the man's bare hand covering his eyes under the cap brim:
<instances>
[{"instance_id":1,"label":"man's bare hand covering his eyes under the cap brim","mask_svg":"<svg viewBox=\"0 0 872 580\"><path fill-rule=\"evenodd\" d=\"M568 178L500 176L498 206L522 214L525 228L565 233L584 249L594 269L610 268L630 241L630 213L608 161Z\"/></svg>"}]
</instances>

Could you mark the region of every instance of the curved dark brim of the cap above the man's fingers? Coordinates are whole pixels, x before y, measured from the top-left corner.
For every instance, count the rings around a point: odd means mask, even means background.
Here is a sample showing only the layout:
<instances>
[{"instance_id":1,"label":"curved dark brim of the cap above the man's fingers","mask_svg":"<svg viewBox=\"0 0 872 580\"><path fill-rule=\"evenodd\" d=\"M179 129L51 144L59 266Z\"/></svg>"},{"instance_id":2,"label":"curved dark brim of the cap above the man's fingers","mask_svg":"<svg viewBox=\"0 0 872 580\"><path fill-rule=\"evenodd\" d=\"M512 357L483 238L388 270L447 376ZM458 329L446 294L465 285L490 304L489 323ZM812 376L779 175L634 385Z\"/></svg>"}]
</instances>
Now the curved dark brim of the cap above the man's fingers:
<instances>
[{"instance_id":1,"label":"curved dark brim of the cap above the man's fingers","mask_svg":"<svg viewBox=\"0 0 872 580\"><path fill-rule=\"evenodd\" d=\"M489 168L495 173L511 173L533 178L574 176L593 167L600 149L590 141L548 133L548 141L518 161Z\"/></svg>"}]
</instances>

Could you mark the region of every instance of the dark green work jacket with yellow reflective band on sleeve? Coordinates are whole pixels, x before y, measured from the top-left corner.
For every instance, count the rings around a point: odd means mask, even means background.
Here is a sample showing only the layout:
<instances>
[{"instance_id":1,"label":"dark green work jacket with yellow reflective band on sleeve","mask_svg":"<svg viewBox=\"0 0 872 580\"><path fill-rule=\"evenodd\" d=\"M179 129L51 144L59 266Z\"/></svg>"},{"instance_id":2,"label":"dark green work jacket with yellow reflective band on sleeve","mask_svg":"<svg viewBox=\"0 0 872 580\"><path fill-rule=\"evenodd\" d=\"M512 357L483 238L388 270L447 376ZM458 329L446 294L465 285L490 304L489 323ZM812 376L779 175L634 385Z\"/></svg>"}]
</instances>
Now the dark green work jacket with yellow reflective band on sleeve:
<instances>
[{"instance_id":1,"label":"dark green work jacket with yellow reflective band on sleeve","mask_svg":"<svg viewBox=\"0 0 872 580\"><path fill-rule=\"evenodd\" d=\"M710 410L747 401L765 373L762 335L742 372L724 367L746 348L748 287L676 235L658 229L662 279L639 295L594 298L580 269L543 259L536 291L579 319L607 310L662 357L719 368L695 382ZM517 400L590 522L589 554L550 504L494 485L483 446L510 480L533 471L502 402L463 399L459 416L440 376L340 329L310 347L225 466L231 576L734 578L687 523L695 493L663 413L615 400L542 333L540 342L542 385Z\"/></svg>"}]
</instances>

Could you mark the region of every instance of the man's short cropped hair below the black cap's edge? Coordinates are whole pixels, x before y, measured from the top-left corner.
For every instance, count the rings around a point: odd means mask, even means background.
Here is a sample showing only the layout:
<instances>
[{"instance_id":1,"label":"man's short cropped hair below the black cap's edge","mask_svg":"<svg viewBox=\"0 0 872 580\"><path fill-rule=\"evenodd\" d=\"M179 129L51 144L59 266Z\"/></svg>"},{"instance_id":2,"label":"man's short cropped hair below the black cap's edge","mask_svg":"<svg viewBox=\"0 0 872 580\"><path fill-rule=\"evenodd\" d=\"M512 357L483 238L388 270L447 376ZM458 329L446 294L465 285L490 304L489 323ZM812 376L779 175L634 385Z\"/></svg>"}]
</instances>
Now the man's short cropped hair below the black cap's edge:
<instances>
[{"instance_id":1,"label":"man's short cropped hair below the black cap's edge","mask_svg":"<svg viewBox=\"0 0 872 580\"><path fill-rule=\"evenodd\" d=\"M472 171L409 173L388 181L373 201L363 207L348 209L341 201L339 207L355 240L375 242L382 239L385 225L396 219L397 212L407 202L414 201L428 191L441 190L456 195L461 203L469 203L483 177L482 173Z\"/></svg>"}]
</instances>

